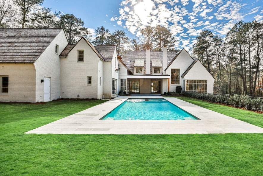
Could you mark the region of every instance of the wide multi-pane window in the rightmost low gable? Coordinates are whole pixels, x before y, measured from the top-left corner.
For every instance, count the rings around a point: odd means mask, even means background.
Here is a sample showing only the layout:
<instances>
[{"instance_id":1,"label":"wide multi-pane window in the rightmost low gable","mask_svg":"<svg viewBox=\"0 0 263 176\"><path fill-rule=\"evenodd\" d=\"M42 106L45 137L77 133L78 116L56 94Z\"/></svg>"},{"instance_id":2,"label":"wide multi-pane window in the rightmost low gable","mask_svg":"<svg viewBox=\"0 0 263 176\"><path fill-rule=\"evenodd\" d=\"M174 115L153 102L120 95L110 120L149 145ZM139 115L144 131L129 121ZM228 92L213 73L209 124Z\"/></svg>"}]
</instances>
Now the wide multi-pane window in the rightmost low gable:
<instances>
[{"instance_id":1,"label":"wide multi-pane window in the rightmost low gable","mask_svg":"<svg viewBox=\"0 0 263 176\"><path fill-rule=\"evenodd\" d=\"M207 92L207 80L185 80L185 91Z\"/></svg>"}]
</instances>

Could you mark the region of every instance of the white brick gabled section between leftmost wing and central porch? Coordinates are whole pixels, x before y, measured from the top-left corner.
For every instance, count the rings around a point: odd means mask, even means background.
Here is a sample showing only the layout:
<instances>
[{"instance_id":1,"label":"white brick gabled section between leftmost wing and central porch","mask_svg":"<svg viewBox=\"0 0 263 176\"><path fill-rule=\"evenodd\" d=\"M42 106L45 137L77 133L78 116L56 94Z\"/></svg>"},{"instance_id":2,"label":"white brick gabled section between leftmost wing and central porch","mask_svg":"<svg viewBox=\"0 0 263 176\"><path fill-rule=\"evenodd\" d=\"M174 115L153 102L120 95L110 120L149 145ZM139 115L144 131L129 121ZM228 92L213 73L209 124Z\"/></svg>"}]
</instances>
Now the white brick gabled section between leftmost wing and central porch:
<instances>
[{"instance_id":1,"label":"white brick gabled section between leftmost wing and central porch","mask_svg":"<svg viewBox=\"0 0 263 176\"><path fill-rule=\"evenodd\" d=\"M116 47L94 47L81 38L60 54L62 98L112 98L117 95Z\"/></svg>"}]
</instances>

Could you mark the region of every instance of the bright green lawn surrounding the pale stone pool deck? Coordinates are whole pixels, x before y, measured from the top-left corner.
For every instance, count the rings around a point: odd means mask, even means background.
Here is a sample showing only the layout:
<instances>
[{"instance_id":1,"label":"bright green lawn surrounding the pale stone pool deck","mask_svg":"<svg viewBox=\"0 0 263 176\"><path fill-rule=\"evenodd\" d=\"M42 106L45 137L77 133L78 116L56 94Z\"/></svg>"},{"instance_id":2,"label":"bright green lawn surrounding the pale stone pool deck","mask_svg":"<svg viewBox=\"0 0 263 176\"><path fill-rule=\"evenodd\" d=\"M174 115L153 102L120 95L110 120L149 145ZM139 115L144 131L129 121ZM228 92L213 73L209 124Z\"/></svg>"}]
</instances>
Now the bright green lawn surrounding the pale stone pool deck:
<instances>
[{"instance_id":1,"label":"bright green lawn surrounding the pale stone pool deck","mask_svg":"<svg viewBox=\"0 0 263 176\"><path fill-rule=\"evenodd\" d=\"M180 99L263 124L262 114ZM0 103L0 175L263 175L263 134L24 134L102 102Z\"/></svg>"}]
</instances>

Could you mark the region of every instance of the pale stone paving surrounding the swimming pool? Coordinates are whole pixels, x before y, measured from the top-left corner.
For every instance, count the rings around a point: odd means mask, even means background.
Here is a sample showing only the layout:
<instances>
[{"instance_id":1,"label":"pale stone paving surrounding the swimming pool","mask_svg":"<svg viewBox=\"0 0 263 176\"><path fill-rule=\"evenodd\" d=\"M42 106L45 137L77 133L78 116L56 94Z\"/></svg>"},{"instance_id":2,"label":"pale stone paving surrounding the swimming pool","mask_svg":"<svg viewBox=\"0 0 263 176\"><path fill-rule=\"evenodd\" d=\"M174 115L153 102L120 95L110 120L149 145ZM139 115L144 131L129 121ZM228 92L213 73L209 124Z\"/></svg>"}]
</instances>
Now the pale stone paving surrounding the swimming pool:
<instances>
[{"instance_id":1,"label":"pale stone paving surrounding the swimming pool","mask_svg":"<svg viewBox=\"0 0 263 176\"><path fill-rule=\"evenodd\" d=\"M128 98L165 98L200 120L100 120ZM201 108L177 98L162 96L118 96L108 102L75 113L26 132L38 134L208 134L263 133L263 128Z\"/></svg>"}]
</instances>

